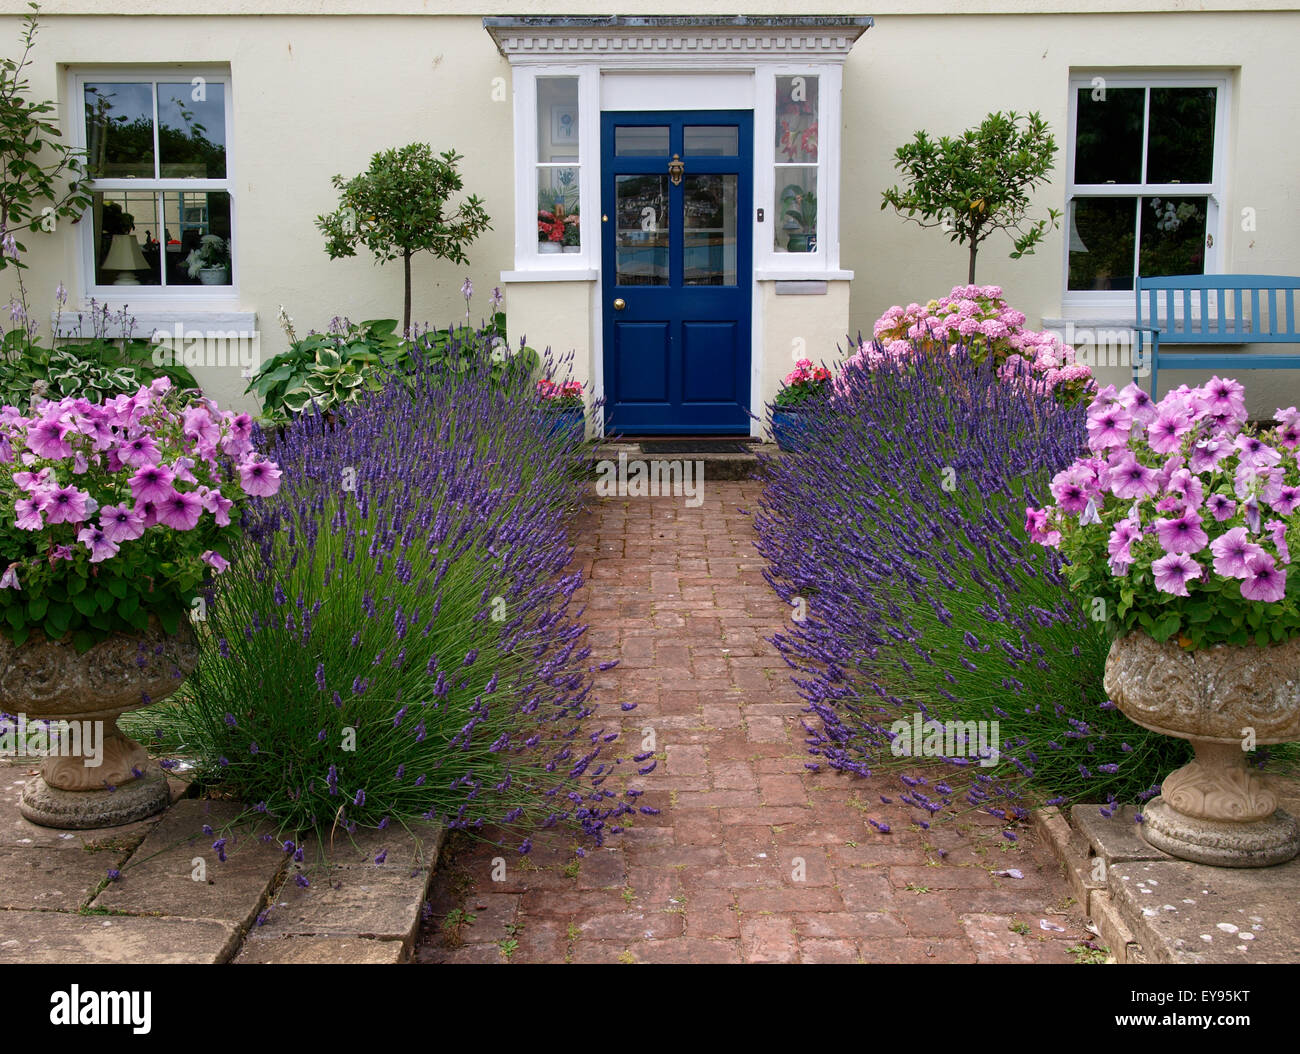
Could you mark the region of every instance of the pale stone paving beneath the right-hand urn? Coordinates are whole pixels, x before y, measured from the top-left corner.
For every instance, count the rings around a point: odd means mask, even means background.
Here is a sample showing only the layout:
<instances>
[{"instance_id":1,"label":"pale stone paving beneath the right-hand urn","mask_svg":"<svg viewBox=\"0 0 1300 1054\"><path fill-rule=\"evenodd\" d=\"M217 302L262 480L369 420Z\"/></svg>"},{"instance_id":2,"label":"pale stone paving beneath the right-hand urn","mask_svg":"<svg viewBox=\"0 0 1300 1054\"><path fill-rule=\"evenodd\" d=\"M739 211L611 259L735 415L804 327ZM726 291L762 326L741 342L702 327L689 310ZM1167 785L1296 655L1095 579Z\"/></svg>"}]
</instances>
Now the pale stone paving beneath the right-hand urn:
<instances>
[{"instance_id":1,"label":"pale stone paving beneath the right-hand urn","mask_svg":"<svg viewBox=\"0 0 1300 1054\"><path fill-rule=\"evenodd\" d=\"M1295 788L1277 789L1294 814ZM1134 814L1126 807L1106 819L1097 806L1078 804L1074 827L1054 807L1034 814L1115 962L1300 960L1300 858L1265 868L1179 860L1147 845ZM1097 859L1105 863L1105 882L1095 877Z\"/></svg>"}]
</instances>

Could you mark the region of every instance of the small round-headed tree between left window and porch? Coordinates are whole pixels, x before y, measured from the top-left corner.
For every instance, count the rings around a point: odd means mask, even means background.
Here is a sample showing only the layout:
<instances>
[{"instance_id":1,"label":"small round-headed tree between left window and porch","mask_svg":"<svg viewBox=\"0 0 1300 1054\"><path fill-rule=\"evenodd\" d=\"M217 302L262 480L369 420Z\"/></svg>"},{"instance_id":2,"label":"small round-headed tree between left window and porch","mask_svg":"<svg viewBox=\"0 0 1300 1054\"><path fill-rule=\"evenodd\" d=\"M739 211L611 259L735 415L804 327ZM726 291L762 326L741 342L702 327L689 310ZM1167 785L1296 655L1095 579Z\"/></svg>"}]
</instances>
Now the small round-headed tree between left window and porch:
<instances>
[{"instance_id":1,"label":"small round-headed tree between left window and porch","mask_svg":"<svg viewBox=\"0 0 1300 1054\"><path fill-rule=\"evenodd\" d=\"M332 260L355 256L358 246L373 252L378 264L402 257L403 333L411 331L411 257L432 252L441 260L467 264L465 248L491 230L482 201L472 194L448 211L451 195L463 187L456 170L460 160L454 149L434 156L428 143L381 151L360 175L330 181L342 191L339 207L316 217Z\"/></svg>"}]
</instances>

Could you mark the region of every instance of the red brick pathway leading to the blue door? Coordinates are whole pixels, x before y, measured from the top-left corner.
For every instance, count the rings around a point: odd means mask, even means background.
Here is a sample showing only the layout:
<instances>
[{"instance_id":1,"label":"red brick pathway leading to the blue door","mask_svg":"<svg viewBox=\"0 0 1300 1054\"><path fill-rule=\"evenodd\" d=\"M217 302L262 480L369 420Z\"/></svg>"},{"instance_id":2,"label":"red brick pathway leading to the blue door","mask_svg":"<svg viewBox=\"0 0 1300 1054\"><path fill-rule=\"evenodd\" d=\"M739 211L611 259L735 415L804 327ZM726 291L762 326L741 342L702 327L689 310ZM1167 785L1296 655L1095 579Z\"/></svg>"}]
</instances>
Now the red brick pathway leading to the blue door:
<instances>
[{"instance_id":1,"label":"red brick pathway leading to the blue door","mask_svg":"<svg viewBox=\"0 0 1300 1054\"><path fill-rule=\"evenodd\" d=\"M572 855L452 842L424 962L1072 962L1088 940L1044 846L1001 825L913 828L885 781L810 772L801 701L764 638L786 612L760 576L757 482L682 498L595 500L577 525L590 641L620 663L602 708L653 729L636 829ZM879 834L867 817L889 821ZM1014 868L1023 879L996 877ZM474 920L447 923L462 911ZM452 915L454 921L458 916Z\"/></svg>"}]
</instances>

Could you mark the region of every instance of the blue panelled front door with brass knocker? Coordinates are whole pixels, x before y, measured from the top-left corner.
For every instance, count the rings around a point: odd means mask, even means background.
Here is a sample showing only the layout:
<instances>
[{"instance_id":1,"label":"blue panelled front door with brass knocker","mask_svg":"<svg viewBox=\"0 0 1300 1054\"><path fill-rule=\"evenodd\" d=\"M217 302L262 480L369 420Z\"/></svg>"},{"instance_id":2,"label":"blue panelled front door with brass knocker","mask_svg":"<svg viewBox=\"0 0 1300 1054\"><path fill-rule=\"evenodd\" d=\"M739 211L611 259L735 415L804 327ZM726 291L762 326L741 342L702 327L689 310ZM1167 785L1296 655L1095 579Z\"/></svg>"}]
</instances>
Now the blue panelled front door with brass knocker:
<instances>
[{"instance_id":1,"label":"blue panelled front door with brass knocker","mask_svg":"<svg viewBox=\"0 0 1300 1054\"><path fill-rule=\"evenodd\" d=\"M749 434L749 110L603 113L606 430Z\"/></svg>"}]
</instances>

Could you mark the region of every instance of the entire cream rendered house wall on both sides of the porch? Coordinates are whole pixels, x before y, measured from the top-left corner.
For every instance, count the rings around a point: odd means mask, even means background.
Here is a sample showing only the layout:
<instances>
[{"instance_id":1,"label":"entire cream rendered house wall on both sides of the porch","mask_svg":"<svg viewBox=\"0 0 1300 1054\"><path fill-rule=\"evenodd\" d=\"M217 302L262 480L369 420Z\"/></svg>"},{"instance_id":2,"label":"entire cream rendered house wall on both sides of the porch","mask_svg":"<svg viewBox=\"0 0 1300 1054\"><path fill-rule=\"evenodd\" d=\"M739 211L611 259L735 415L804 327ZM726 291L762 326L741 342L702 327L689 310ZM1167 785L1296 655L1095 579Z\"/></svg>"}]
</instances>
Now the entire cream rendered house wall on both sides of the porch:
<instances>
[{"instance_id":1,"label":"entire cream rendered house wall on both sides of the porch","mask_svg":"<svg viewBox=\"0 0 1300 1054\"><path fill-rule=\"evenodd\" d=\"M654 13L729 14L736 6L667 0L656 3ZM742 6L753 14L798 13L789 0ZM458 290L467 273L478 289L476 316L485 312L486 292L514 265L514 188L508 87L494 101L494 78L508 86L510 68L481 18L607 13L604 0L566 0L554 8L517 0L114 0L113 8L140 17L98 17L101 3L48 0L35 52L35 92L66 105L56 64L230 65L239 255L233 307L257 312L264 356L285 346L274 322L281 303L299 331L324 328L337 313L364 318L400 312L399 264L329 261L312 221L335 201L330 175L355 174L376 149L407 142L428 140L467 155L467 187L486 200L497 227L473 248L468 268L417 260L415 317L443 325L462 317ZM18 0L0 0L5 53L12 52L23 12ZM818 12L862 13L845 3L818 4ZM1269 0L892 0L872 5L871 14L876 25L855 45L844 77L841 263L857 277L852 294L832 283L823 298L779 298L763 283L764 396L775 390L772 378L788 369L792 330L809 335L811 357L835 355L844 339L838 330L846 295L850 330L870 333L889 304L924 299L965 281L963 248L880 211L880 191L897 177L893 149L916 129L957 133L989 110L1009 108L1041 110L1063 147L1071 70L1230 70L1223 269L1300 273L1300 136L1294 134L1300 13ZM1058 178L1040 195L1040 209L1063 205L1063 165L1062 151ZM1239 229L1244 207L1256 209L1256 231ZM34 307L43 309L58 279L73 286L77 248L68 229L29 242L39 247L29 286ZM1031 322L1060 316L1063 233L1052 234L1035 256L1020 261L1008 260L1008 250L997 235L987 243L979 279L1002 285ZM9 274L0 276L0 298L12 289ZM73 287L74 295L79 291ZM592 295L588 283L514 286L506 304L511 330L526 331L534 346L577 348L589 357L595 346ZM836 321L828 325L823 317ZM208 372L200 379L229 403L244 383L233 374ZM1123 379L1119 370L1112 376ZM1268 391L1252 398L1257 412L1300 402L1300 378L1243 378L1252 391ZM1180 379L1162 374L1162 387Z\"/></svg>"}]
</instances>

